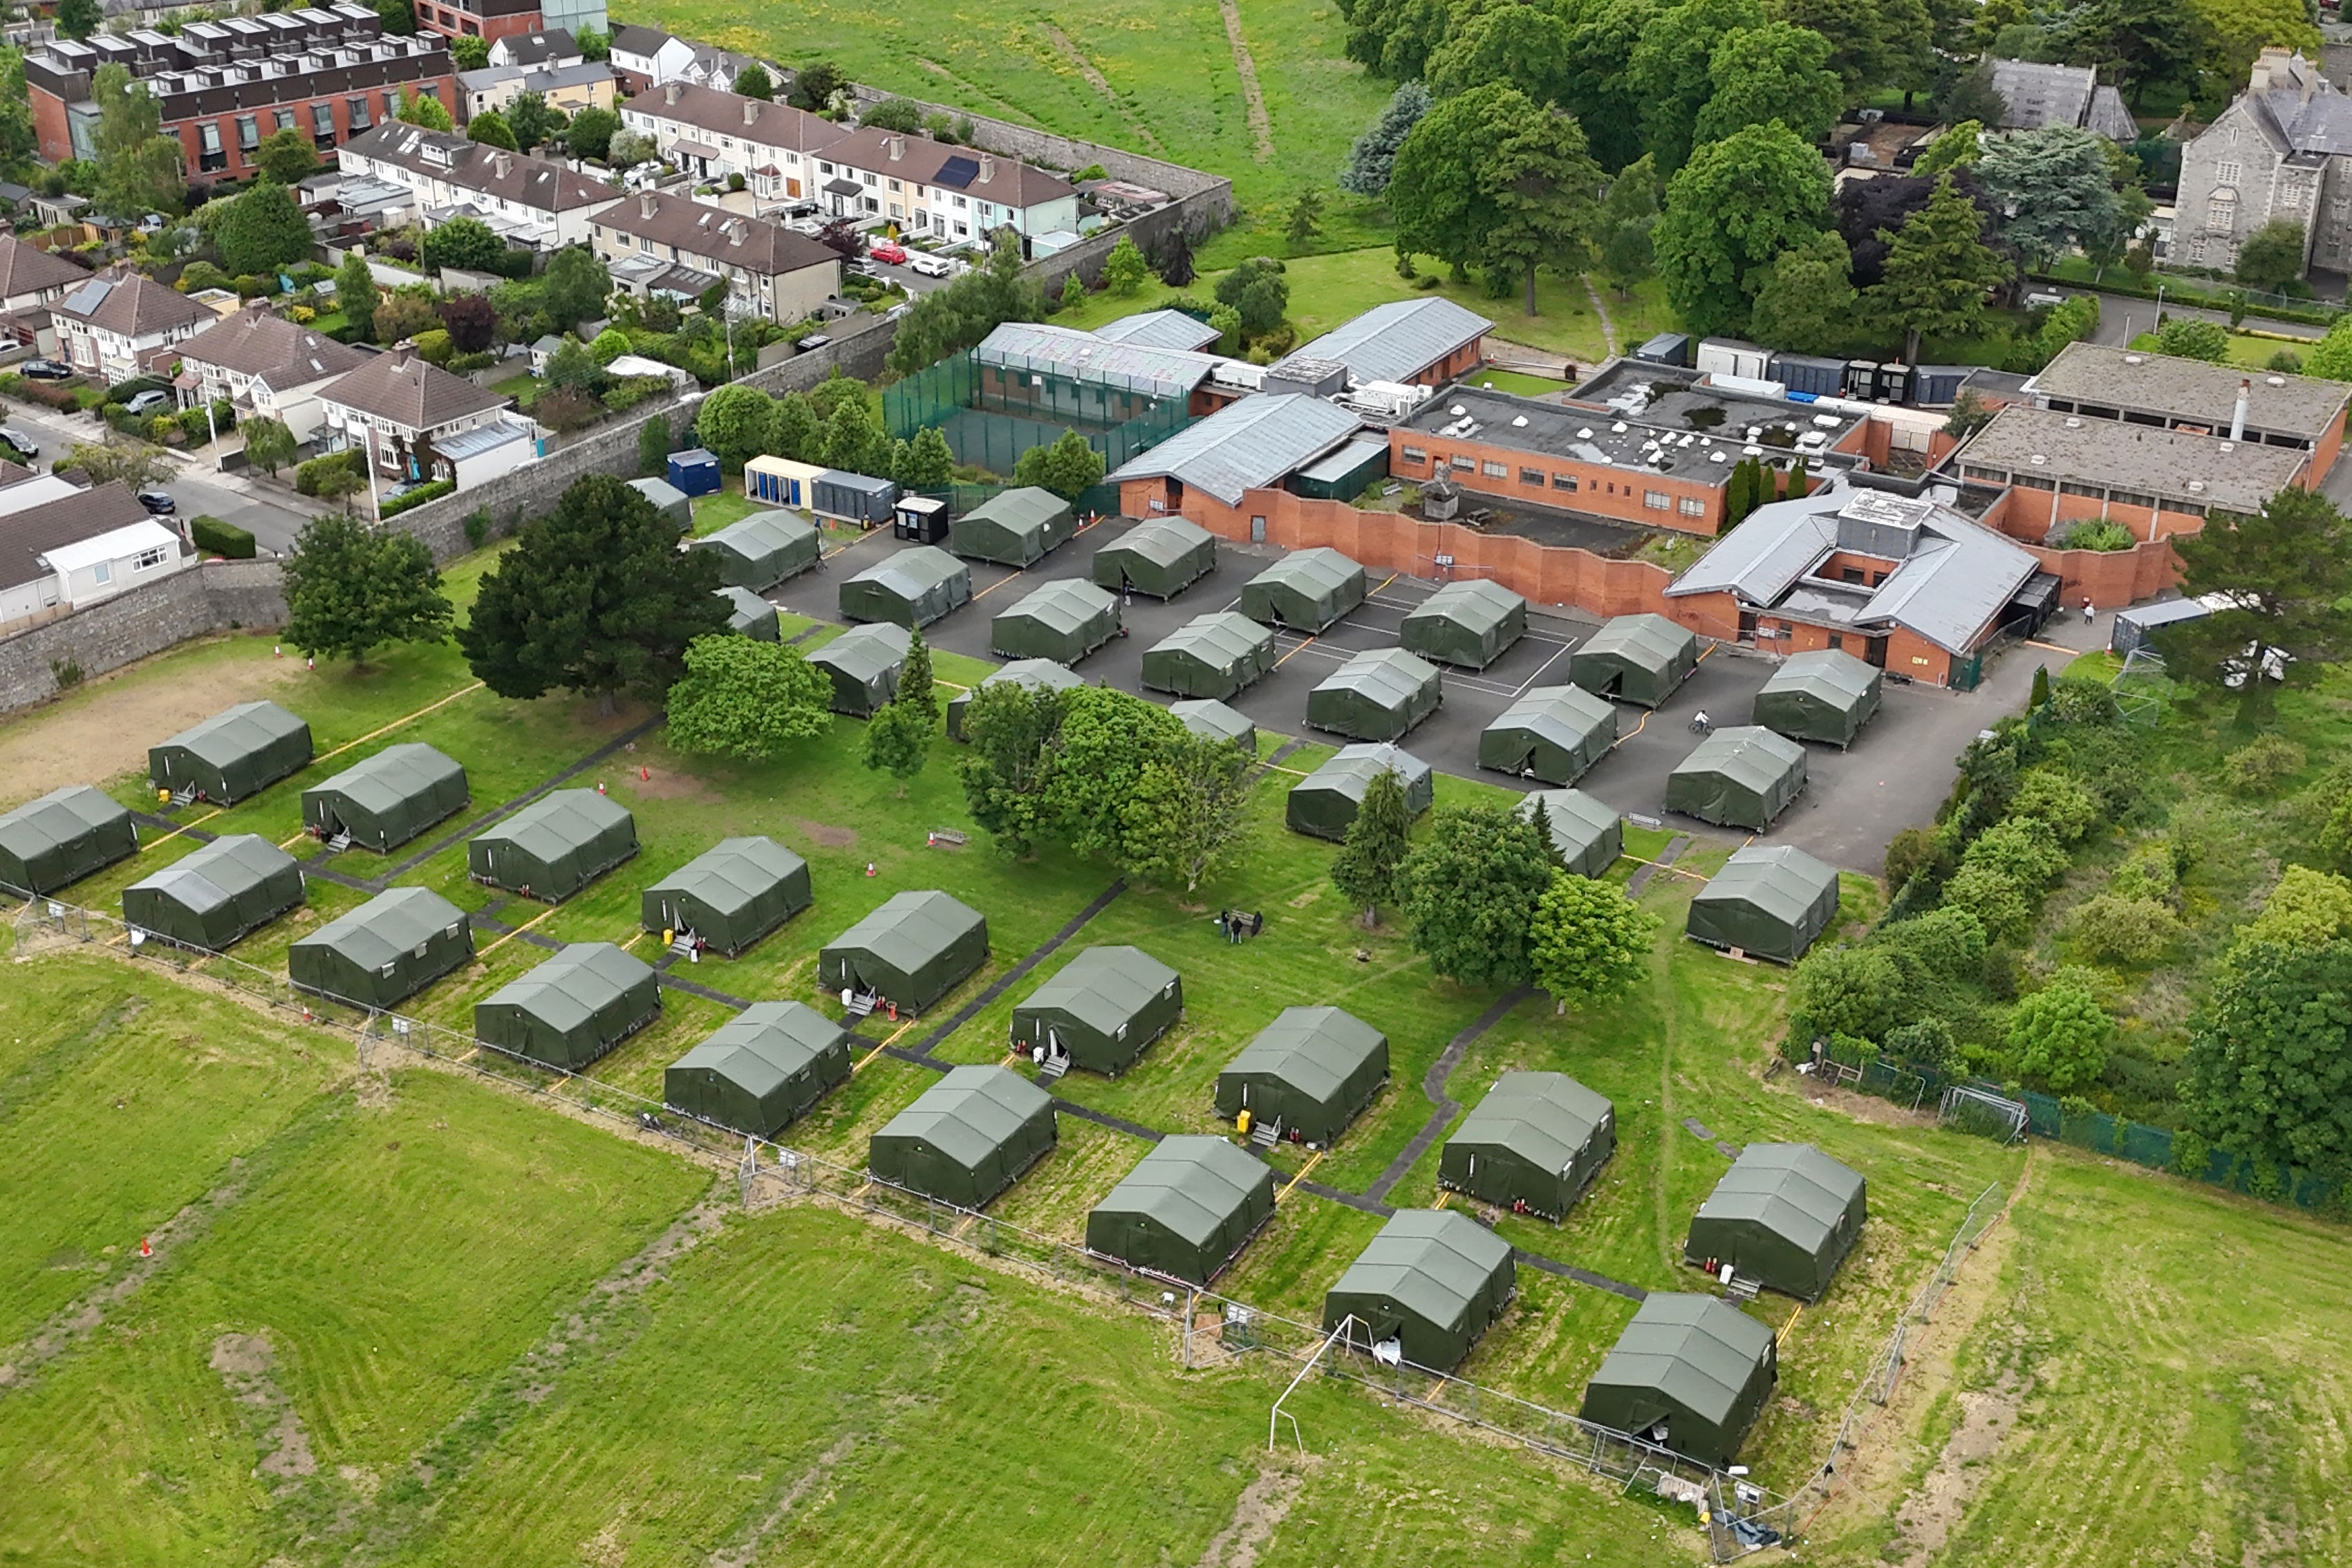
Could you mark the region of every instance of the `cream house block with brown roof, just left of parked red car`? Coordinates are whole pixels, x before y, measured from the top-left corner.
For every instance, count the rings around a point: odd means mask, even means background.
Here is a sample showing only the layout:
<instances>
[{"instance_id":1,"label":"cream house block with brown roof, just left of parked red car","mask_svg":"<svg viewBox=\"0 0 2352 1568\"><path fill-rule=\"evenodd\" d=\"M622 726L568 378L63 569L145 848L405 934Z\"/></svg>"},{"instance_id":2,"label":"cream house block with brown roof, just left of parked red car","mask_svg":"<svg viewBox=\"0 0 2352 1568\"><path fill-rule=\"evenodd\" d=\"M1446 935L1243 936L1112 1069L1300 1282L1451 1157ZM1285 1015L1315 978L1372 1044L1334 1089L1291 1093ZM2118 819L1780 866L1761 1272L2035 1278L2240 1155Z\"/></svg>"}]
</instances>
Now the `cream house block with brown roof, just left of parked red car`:
<instances>
[{"instance_id":1,"label":"cream house block with brown roof, just left of parked red car","mask_svg":"<svg viewBox=\"0 0 2352 1568\"><path fill-rule=\"evenodd\" d=\"M727 280L739 308L769 322L807 320L842 289L840 254L816 240L661 190L597 212L588 244L619 289L694 299Z\"/></svg>"}]
</instances>

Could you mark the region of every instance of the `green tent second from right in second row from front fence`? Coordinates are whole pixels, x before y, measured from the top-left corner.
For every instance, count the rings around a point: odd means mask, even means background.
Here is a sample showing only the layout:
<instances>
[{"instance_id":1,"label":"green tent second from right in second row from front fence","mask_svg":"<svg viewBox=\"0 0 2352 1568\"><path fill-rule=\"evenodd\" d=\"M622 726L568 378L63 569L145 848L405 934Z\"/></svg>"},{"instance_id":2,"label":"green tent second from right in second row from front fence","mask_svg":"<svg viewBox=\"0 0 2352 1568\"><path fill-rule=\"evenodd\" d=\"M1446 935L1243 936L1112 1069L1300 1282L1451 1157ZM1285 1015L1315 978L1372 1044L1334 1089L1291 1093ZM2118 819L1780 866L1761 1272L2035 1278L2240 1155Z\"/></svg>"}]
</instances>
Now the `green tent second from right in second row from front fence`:
<instances>
[{"instance_id":1,"label":"green tent second from right in second row from front fence","mask_svg":"<svg viewBox=\"0 0 2352 1568\"><path fill-rule=\"evenodd\" d=\"M1559 1220L1609 1164L1616 1107L1566 1072L1505 1072L1437 1157L1437 1185Z\"/></svg>"}]
</instances>

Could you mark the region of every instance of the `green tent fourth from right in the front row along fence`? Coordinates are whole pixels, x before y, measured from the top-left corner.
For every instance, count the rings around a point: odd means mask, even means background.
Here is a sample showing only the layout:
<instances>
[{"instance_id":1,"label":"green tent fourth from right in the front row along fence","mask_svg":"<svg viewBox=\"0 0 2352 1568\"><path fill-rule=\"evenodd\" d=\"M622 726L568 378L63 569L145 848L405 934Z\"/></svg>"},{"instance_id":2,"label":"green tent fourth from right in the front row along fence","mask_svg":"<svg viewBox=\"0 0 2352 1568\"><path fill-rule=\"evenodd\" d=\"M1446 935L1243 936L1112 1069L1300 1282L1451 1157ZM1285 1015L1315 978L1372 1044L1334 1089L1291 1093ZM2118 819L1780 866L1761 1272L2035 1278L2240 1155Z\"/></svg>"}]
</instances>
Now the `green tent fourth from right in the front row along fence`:
<instances>
[{"instance_id":1,"label":"green tent fourth from right in the front row along fence","mask_svg":"<svg viewBox=\"0 0 2352 1568\"><path fill-rule=\"evenodd\" d=\"M1054 1152L1054 1095L1004 1067L953 1067L866 1150L875 1180L985 1208Z\"/></svg>"}]
</instances>

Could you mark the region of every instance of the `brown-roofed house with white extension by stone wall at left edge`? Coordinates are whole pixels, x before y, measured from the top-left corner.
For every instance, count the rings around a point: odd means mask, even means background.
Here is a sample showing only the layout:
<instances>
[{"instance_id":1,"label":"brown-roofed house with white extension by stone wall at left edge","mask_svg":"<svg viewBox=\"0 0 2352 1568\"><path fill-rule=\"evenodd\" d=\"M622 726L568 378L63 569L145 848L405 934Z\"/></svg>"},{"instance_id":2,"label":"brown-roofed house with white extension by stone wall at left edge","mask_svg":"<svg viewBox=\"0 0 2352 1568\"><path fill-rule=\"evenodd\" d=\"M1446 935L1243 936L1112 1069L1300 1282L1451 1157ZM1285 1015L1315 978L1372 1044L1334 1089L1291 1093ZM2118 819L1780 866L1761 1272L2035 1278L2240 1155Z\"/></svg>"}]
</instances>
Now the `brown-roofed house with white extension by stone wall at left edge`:
<instances>
[{"instance_id":1,"label":"brown-roofed house with white extension by stone wall at left edge","mask_svg":"<svg viewBox=\"0 0 2352 1568\"><path fill-rule=\"evenodd\" d=\"M64 494L52 489L64 487ZM26 505L14 505L16 501ZM24 630L195 564L129 487L64 480L0 487L0 632Z\"/></svg>"}]
</instances>

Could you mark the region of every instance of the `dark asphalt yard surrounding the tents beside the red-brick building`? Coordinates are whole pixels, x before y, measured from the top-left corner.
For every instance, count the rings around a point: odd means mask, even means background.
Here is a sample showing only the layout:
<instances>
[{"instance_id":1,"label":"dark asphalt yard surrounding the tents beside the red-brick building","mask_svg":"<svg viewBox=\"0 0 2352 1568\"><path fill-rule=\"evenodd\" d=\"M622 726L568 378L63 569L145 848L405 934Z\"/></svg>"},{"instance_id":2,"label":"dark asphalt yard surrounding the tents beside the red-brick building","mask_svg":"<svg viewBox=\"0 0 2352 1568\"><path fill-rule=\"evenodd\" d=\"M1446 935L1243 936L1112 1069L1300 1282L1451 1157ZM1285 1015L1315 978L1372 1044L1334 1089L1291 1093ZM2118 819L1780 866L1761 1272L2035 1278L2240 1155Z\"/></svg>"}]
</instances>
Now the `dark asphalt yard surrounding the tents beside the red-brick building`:
<instances>
[{"instance_id":1,"label":"dark asphalt yard surrounding the tents beside the red-brick building","mask_svg":"<svg viewBox=\"0 0 2352 1568\"><path fill-rule=\"evenodd\" d=\"M1051 552L1025 571L967 562L974 602L924 628L931 646L995 661L988 646L990 618L1018 604L1044 583L1087 578L1094 550L1134 527L1105 520ZM826 571L807 571L767 592L769 602L818 621L840 621L840 585L901 545L889 529L875 529L826 562ZM1143 651L1192 621L1218 609L1235 609L1242 583L1279 559L1282 550L1218 541L1216 569L1176 595L1174 602L1136 597L1124 609L1127 637L1117 637L1084 658L1077 670L1087 679L1138 691L1167 703L1167 693L1143 691ZM1437 590L1437 583L1397 576L1371 583L1371 597L1345 621L1319 637L1279 632L1277 665L1254 686L1232 698L1232 708L1258 726L1287 736L1345 745L1343 736L1308 729L1308 691L1336 672L1348 658L1369 649L1397 646L1406 611ZM1444 670L1444 705L1404 738L1404 748L1430 766L1461 778L1508 785L1505 773L1477 766L1479 733L1519 693L1531 686L1566 684L1566 654L1590 637L1599 621L1529 611L1529 630L1486 670ZM1576 788L1618 811L1663 820L1682 832L1740 839L1738 830L1712 827L1696 818L1665 811L1665 778L1698 733L1691 719L1745 724L1757 689L1778 661L1731 644L1703 644L1698 672L1656 712L1618 703L1618 743ZM2053 661L2056 663L2056 661ZM1851 752L1832 745L1806 745L1806 788L1769 832L1766 844L1795 844L1830 865L1877 875L1886 842L1903 827L1926 823L1952 788L1955 759L1962 748L1999 715L2023 701L2032 679L2034 654L2011 651L1994 661L1976 691L1945 691L1889 682L1877 717L1863 729Z\"/></svg>"}]
</instances>

